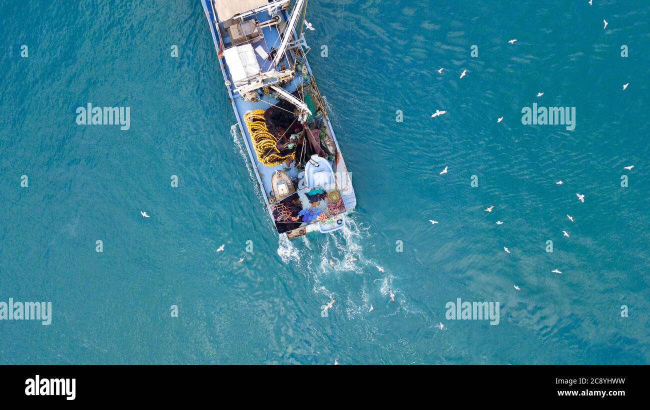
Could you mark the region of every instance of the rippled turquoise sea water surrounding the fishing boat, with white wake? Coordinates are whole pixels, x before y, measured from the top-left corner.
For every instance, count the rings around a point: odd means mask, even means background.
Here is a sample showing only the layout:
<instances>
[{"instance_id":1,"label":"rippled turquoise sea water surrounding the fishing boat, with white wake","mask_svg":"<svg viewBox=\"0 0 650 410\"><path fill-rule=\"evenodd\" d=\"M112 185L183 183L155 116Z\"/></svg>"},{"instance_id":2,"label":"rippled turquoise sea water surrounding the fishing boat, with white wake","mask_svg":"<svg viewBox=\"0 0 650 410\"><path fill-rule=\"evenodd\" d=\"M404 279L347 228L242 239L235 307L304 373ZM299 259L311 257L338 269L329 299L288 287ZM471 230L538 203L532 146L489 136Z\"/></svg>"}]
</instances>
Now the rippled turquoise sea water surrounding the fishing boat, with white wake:
<instances>
[{"instance_id":1,"label":"rippled turquoise sea water surrounding the fishing boat, with white wake","mask_svg":"<svg viewBox=\"0 0 650 410\"><path fill-rule=\"evenodd\" d=\"M593 3L309 1L358 206L288 242L199 1L1 2L0 300L53 317L0 321L0 363L649 363L650 8ZM575 130L522 125L534 102ZM87 103L131 128L76 125ZM499 325L447 320L457 298Z\"/></svg>"}]
</instances>

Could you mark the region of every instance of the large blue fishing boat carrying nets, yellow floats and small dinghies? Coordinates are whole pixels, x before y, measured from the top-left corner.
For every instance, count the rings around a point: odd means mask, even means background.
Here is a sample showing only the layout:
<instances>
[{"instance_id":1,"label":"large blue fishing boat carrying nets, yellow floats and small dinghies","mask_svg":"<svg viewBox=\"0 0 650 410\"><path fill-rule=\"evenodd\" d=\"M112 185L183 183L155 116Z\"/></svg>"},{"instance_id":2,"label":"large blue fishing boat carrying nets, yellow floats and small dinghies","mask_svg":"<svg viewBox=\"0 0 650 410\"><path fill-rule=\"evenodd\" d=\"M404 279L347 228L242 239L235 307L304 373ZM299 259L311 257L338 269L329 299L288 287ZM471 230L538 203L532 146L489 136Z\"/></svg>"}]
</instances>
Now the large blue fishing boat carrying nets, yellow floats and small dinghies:
<instances>
[{"instance_id":1,"label":"large blue fishing boat carrying nets, yellow floats and small dinghies","mask_svg":"<svg viewBox=\"0 0 650 410\"><path fill-rule=\"evenodd\" d=\"M278 235L331 233L356 206L307 62L307 0L201 0L239 132Z\"/></svg>"}]
</instances>

